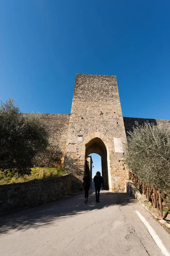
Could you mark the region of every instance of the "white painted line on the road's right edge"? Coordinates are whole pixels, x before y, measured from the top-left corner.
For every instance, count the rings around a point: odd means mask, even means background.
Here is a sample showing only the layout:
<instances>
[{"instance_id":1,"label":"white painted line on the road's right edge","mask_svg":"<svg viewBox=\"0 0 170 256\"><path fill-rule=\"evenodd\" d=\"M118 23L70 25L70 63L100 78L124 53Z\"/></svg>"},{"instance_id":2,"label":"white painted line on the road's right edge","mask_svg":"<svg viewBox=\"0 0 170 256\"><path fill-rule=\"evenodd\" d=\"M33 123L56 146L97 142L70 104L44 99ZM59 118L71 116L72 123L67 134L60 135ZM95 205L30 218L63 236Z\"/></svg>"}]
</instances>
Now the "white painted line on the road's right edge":
<instances>
[{"instance_id":1,"label":"white painted line on the road's right edge","mask_svg":"<svg viewBox=\"0 0 170 256\"><path fill-rule=\"evenodd\" d=\"M134 210L135 211L135 210ZM142 216L142 214L140 214L140 212L135 211L136 214L139 216L139 218L141 219L141 221L144 223L144 225L147 227L150 235L152 236L153 240L156 242L156 244L158 245L158 247L161 249L161 252L163 253L164 256L170 256L170 253L168 252L167 248L164 246L164 244L162 243L161 239L159 238L159 236L156 234L155 230L153 230L153 228L150 226L150 224L145 220L145 218Z\"/></svg>"}]
</instances>

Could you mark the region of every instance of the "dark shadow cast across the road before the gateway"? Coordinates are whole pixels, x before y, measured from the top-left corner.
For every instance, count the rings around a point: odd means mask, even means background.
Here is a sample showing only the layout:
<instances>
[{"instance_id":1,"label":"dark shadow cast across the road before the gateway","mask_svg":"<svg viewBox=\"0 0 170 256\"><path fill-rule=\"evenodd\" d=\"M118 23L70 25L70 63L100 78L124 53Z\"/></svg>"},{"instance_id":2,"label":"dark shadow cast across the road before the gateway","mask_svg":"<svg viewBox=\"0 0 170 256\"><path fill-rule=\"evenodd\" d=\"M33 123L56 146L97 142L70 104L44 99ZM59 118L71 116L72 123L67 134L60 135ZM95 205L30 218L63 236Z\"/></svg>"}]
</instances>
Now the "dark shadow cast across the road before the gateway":
<instances>
[{"instance_id":1,"label":"dark shadow cast across the road before the gateway","mask_svg":"<svg viewBox=\"0 0 170 256\"><path fill-rule=\"evenodd\" d=\"M90 193L88 204L85 204L84 193L80 193L79 195L71 196L71 198L61 198L48 204L1 215L0 233L48 226L54 222L56 223L56 221L74 218L75 215L83 214L83 212L99 211L102 208L113 205L125 206L136 201L136 199L131 198L126 193L102 190L100 202L96 203L93 188L91 188Z\"/></svg>"}]
</instances>

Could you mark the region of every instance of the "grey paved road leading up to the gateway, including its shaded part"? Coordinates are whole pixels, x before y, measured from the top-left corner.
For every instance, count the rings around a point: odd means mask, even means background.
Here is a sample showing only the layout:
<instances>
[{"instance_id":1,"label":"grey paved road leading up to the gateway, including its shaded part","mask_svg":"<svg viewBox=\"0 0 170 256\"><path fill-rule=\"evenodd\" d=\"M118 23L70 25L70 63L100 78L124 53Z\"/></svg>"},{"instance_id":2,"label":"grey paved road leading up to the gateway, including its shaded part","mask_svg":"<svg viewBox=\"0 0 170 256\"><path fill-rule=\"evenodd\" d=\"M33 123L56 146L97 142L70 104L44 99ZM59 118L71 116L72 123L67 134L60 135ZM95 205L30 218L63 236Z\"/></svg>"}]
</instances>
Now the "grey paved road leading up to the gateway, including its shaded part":
<instances>
[{"instance_id":1,"label":"grey paved road leading up to the gateway, including its shaded part","mask_svg":"<svg viewBox=\"0 0 170 256\"><path fill-rule=\"evenodd\" d=\"M93 192L93 191L92 191ZM83 194L0 217L0 256L162 256L134 210L170 251L170 235L126 193Z\"/></svg>"}]
</instances>

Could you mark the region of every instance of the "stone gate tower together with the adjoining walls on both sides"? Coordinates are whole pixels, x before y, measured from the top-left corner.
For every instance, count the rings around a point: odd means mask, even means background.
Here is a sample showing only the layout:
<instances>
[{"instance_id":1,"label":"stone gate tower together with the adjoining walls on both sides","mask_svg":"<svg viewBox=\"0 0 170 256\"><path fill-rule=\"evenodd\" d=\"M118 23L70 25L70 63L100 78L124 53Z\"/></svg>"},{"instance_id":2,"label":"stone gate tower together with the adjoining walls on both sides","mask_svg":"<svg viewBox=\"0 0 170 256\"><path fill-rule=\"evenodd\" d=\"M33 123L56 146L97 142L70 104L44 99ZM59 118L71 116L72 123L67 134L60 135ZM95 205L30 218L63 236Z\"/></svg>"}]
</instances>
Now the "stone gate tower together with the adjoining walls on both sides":
<instances>
[{"instance_id":1,"label":"stone gate tower together with the adjoining walls on both sides","mask_svg":"<svg viewBox=\"0 0 170 256\"><path fill-rule=\"evenodd\" d=\"M37 114L36 114L37 115ZM127 132L135 121L148 121L170 127L169 120L123 117L116 76L76 75L71 114L39 114L45 122L52 148L62 152L61 162L51 167L63 167L71 173L72 184L82 188L85 159L88 154L102 157L102 175L113 191L125 190L128 177L124 162ZM40 166L47 166L42 157ZM74 186L72 186L74 189Z\"/></svg>"}]
</instances>

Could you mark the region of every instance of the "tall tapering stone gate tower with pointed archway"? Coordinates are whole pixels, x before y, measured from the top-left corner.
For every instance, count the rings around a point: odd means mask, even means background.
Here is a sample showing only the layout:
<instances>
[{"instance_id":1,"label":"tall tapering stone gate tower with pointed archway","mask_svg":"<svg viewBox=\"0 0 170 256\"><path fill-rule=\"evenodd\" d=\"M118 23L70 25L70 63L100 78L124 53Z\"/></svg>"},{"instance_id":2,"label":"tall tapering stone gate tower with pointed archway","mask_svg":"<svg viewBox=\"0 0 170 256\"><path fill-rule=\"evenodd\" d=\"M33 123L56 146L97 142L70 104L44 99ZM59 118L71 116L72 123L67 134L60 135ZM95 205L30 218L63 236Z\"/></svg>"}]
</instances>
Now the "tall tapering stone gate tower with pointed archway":
<instances>
[{"instance_id":1,"label":"tall tapering stone gate tower with pointed archway","mask_svg":"<svg viewBox=\"0 0 170 256\"><path fill-rule=\"evenodd\" d=\"M76 75L64 169L77 181L85 175L89 154L102 159L105 189L125 191L125 126L116 76Z\"/></svg>"}]
</instances>

